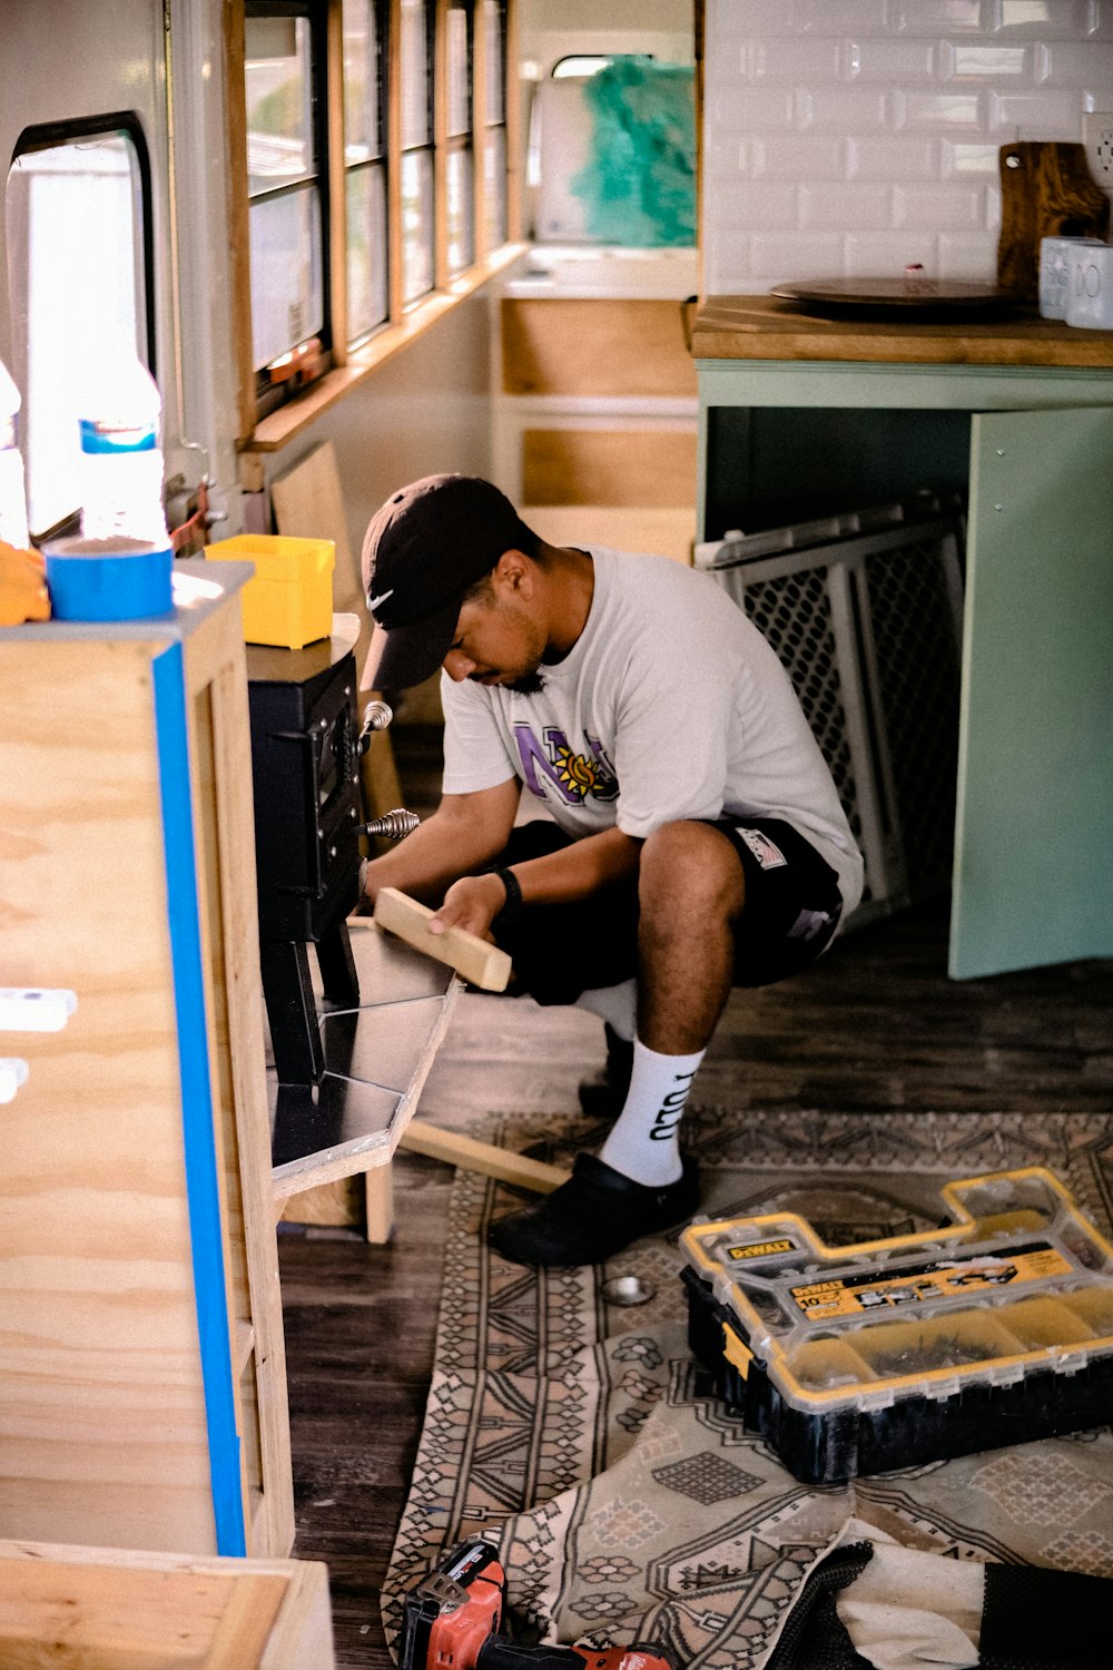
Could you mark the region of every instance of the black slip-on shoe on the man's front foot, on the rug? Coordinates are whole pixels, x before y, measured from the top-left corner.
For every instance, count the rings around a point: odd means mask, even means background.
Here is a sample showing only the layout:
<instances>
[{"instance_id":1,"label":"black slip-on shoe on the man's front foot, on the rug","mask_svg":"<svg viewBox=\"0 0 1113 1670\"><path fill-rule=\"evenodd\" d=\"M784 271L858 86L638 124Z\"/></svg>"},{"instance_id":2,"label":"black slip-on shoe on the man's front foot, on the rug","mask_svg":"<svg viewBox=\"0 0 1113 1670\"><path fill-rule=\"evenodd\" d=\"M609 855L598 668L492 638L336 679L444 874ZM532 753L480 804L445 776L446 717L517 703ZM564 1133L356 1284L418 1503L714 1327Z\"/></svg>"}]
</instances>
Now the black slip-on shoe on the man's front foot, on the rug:
<instances>
[{"instance_id":1,"label":"black slip-on shoe on the man's front foot, on the rug","mask_svg":"<svg viewBox=\"0 0 1113 1670\"><path fill-rule=\"evenodd\" d=\"M596 1154L577 1154L572 1176L552 1194L501 1217L487 1242L512 1264L602 1264L631 1241L672 1229L699 1206L696 1162L677 1182L651 1187Z\"/></svg>"}]
</instances>

